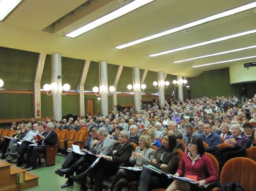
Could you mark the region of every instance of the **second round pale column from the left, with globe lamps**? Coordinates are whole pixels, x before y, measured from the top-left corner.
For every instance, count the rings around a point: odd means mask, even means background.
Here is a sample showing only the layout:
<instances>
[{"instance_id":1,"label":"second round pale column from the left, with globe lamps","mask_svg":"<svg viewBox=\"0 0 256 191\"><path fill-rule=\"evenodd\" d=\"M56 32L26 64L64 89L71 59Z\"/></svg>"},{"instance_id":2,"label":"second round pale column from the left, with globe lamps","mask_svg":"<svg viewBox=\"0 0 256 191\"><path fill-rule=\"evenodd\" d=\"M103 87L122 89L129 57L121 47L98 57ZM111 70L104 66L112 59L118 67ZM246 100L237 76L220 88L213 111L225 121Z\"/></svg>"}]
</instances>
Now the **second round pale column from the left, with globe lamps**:
<instances>
[{"instance_id":1,"label":"second round pale column from the left, with globe lamps","mask_svg":"<svg viewBox=\"0 0 256 191\"><path fill-rule=\"evenodd\" d=\"M108 109L108 83L107 83L107 61L99 61L99 77L100 77L100 101L101 101L101 114L109 115Z\"/></svg>"}]
</instances>

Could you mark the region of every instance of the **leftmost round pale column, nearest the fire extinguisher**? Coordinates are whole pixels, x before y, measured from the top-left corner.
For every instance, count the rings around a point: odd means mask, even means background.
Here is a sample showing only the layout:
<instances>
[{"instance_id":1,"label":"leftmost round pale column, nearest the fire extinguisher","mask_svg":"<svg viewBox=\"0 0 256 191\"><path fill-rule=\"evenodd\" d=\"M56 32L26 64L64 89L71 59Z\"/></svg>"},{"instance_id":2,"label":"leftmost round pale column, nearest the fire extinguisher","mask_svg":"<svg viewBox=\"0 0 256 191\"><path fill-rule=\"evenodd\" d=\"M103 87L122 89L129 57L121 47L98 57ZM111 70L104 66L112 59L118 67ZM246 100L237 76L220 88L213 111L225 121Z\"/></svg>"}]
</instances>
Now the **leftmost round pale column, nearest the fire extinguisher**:
<instances>
[{"instance_id":1,"label":"leftmost round pale column, nearest the fire extinguisher","mask_svg":"<svg viewBox=\"0 0 256 191\"><path fill-rule=\"evenodd\" d=\"M53 118L62 119L62 60L60 53L52 53L52 83L57 84L57 90L52 93Z\"/></svg>"}]
</instances>

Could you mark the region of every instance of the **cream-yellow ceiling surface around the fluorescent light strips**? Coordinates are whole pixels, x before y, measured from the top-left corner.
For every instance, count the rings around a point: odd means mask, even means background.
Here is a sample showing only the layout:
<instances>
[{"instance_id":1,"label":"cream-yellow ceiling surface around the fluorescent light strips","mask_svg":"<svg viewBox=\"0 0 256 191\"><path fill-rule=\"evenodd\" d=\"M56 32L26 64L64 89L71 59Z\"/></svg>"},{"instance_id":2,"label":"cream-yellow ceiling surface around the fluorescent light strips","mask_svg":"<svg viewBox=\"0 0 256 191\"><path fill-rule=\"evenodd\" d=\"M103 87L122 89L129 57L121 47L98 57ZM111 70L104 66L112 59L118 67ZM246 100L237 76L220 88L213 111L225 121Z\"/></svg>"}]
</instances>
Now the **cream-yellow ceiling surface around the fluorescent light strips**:
<instances>
[{"instance_id":1,"label":"cream-yellow ceiling surface around the fluorescent light strips","mask_svg":"<svg viewBox=\"0 0 256 191\"><path fill-rule=\"evenodd\" d=\"M139 66L152 71L163 70L165 73L187 77L197 76L206 70L229 67L234 62L199 68L191 68L192 65L256 55L254 48L181 64L173 63L181 59L256 45L256 34L251 34L158 58L148 57L149 54L256 29L256 8L192 27L187 29L190 30L188 34L176 32L126 50L113 48L245 5L251 0L155 0L77 38L65 37L65 33L122 6L117 0L91 0L88 1L89 5L66 16L60 23L52 24L85 2L87 0L24 0L4 22L0 22L0 46L38 53L59 52L65 57L107 60L110 64ZM236 63L252 61L255 59Z\"/></svg>"}]
</instances>

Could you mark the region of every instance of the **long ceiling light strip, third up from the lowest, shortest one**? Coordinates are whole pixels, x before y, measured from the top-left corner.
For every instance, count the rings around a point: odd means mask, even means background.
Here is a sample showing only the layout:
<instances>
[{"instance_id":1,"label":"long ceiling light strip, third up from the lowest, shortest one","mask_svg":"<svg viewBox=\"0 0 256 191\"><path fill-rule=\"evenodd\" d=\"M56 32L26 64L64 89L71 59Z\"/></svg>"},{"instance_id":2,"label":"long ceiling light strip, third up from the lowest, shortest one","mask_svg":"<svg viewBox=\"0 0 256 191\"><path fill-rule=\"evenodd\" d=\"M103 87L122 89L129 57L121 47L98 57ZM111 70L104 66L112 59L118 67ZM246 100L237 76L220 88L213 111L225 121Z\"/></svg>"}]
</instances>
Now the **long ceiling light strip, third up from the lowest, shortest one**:
<instances>
[{"instance_id":1,"label":"long ceiling light strip, third up from the lowest, shortest one","mask_svg":"<svg viewBox=\"0 0 256 191\"><path fill-rule=\"evenodd\" d=\"M211 43L216 43L216 42L223 41L223 40L228 40L228 39L231 39L231 38L236 38L236 37L241 37L241 36L244 36L244 35L249 35L249 34L252 34L252 33L255 33L255 32L256 32L256 29L249 30L249 31L229 35L229 36L226 36L226 37L216 38L214 40L209 40L209 41L205 41L205 42L202 42L202 43L197 43L197 44L194 44L194 45L184 46L184 47L181 47L181 48L176 48L176 49L164 51L164 52L157 53L157 54L151 54L149 56L150 57L155 57L155 56L160 56L160 55L163 55L163 54L174 53L174 52L189 49L189 48L195 48L195 47L198 47L198 46L208 45L208 44L211 44Z\"/></svg>"}]
</instances>

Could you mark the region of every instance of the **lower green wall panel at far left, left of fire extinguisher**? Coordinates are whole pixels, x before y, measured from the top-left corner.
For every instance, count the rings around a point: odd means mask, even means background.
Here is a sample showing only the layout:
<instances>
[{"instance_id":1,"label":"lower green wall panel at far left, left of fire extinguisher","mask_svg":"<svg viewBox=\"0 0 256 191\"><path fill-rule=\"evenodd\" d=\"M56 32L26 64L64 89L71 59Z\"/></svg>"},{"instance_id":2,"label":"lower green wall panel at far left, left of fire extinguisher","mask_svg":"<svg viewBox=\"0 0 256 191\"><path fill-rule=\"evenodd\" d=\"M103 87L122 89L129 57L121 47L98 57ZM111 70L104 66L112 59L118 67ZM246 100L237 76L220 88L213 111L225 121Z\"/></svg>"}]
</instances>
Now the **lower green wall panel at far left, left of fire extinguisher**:
<instances>
[{"instance_id":1,"label":"lower green wall panel at far left, left of fire extinguisher","mask_svg":"<svg viewBox=\"0 0 256 191\"><path fill-rule=\"evenodd\" d=\"M32 94L0 94L0 119L31 118Z\"/></svg>"}]
</instances>

